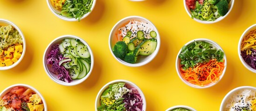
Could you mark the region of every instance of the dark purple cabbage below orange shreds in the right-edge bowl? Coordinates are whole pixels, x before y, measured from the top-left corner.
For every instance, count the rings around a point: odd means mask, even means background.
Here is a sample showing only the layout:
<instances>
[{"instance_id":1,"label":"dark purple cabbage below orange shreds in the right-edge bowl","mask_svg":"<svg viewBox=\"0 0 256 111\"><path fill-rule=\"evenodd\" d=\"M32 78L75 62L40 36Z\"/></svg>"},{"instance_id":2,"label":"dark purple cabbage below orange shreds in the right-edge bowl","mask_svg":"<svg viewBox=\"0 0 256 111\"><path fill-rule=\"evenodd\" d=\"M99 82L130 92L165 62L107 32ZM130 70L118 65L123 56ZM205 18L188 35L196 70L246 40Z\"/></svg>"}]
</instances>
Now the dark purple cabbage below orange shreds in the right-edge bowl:
<instances>
[{"instance_id":1,"label":"dark purple cabbage below orange shreds in the right-edge bowl","mask_svg":"<svg viewBox=\"0 0 256 111\"><path fill-rule=\"evenodd\" d=\"M242 51L242 58L243 60L251 67L256 69L256 50L255 49L250 49L251 50L251 55L247 55L246 51Z\"/></svg>"}]
</instances>

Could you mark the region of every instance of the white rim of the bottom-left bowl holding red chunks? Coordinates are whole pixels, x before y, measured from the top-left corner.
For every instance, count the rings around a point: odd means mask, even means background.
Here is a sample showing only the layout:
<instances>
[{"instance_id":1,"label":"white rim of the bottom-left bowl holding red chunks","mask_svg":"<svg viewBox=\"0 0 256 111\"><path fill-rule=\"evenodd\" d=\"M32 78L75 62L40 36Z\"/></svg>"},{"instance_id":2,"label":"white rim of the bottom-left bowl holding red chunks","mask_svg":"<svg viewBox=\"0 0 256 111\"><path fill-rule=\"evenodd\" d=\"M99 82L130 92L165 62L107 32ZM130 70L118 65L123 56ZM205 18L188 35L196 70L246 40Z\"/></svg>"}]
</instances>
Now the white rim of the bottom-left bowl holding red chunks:
<instances>
[{"instance_id":1,"label":"white rim of the bottom-left bowl holding red chunks","mask_svg":"<svg viewBox=\"0 0 256 111\"><path fill-rule=\"evenodd\" d=\"M14 85L8 86L7 88L5 88L0 93L0 98L2 98L6 93L8 93L12 88L14 88L16 86L21 86L21 87L24 87L24 88L30 88L34 93L37 93L39 95L39 97L42 99L42 103L44 105L44 111L47 111L47 104L46 104L46 101L43 98L42 94L39 91L37 91L34 87L26 85L26 84L14 84Z\"/></svg>"}]
</instances>

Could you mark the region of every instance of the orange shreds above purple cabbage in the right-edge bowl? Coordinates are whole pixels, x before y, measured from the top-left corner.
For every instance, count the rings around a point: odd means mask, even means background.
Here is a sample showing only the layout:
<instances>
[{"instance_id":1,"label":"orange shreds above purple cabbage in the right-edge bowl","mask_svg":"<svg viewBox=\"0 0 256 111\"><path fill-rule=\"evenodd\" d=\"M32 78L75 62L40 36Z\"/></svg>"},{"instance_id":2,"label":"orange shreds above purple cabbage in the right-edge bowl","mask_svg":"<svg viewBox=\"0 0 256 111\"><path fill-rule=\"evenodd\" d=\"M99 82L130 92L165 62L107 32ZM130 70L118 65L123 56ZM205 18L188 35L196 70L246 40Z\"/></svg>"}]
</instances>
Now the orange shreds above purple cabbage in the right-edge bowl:
<instances>
[{"instance_id":1,"label":"orange shreds above purple cabbage in the right-edge bowl","mask_svg":"<svg viewBox=\"0 0 256 111\"><path fill-rule=\"evenodd\" d=\"M242 39L241 43L241 51L246 50L246 54L250 55L251 54L251 48L256 49L256 29L252 30L247 34L245 37Z\"/></svg>"}]
</instances>

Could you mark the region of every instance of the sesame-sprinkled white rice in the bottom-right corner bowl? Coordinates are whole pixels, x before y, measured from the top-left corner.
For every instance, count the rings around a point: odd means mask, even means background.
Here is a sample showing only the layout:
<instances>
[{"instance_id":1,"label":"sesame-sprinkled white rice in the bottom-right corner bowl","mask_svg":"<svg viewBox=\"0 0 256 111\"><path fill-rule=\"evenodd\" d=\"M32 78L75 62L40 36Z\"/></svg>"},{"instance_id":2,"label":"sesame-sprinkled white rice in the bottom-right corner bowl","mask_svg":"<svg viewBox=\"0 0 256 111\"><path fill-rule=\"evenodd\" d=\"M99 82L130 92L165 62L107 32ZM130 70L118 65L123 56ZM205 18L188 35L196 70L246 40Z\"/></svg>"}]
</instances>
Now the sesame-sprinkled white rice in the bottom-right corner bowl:
<instances>
[{"instance_id":1,"label":"sesame-sprinkled white rice in the bottom-right corner bowl","mask_svg":"<svg viewBox=\"0 0 256 111\"><path fill-rule=\"evenodd\" d=\"M254 111L251 108L251 101L256 99L255 93L256 92L248 89L238 91L228 99L224 111L242 111L242 109Z\"/></svg>"}]
</instances>

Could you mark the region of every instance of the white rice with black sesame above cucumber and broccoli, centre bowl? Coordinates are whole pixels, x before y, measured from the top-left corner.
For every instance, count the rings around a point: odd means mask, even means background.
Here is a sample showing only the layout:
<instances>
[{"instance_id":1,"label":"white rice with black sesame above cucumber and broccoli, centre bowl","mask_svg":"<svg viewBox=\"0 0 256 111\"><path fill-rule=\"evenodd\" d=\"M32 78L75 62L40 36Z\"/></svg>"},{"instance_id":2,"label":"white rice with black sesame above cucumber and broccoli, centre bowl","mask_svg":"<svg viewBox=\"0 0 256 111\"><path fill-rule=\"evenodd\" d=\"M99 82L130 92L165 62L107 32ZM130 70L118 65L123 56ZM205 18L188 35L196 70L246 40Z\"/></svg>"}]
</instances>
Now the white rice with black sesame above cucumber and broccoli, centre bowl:
<instances>
[{"instance_id":1,"label":"white rice with black sesame above cucumber and broccoli, centre bowl","mask_svg":"<svg viewBox=\"0 0 256 111\"><path fill-rule=\"evenodd\" d=\"M137 31L143 31L145 38L152 38L150 36L150 31L153 31L153 27L148 23L141 22L138 20L130 20L127 25L118 29L121 31L121 34L118 34L118 39L120 36L125 37L127 35L127 31L131 31L131 39L137 37ZM120 41L120 40L118 40Z\"/></svg>"}]
</instances>

